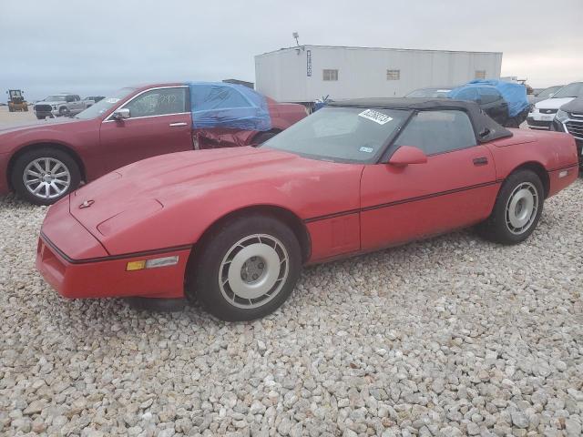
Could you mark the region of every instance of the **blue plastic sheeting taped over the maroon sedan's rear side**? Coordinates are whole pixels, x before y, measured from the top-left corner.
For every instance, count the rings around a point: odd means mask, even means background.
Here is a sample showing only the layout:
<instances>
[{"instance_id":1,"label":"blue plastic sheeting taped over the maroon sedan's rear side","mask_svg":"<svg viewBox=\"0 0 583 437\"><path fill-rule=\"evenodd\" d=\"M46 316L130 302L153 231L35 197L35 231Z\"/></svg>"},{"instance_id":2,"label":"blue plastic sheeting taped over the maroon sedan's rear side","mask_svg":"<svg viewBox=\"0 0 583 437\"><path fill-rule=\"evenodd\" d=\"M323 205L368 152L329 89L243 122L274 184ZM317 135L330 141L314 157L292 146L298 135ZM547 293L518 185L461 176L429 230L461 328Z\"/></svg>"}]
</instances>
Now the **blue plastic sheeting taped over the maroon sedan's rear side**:
<instances>
[{"instance_id":1,"label":"blue plastic sheeting taped over the maroon sedan's rear side","mask_svg":"<svg viewBox=\"0 0 583 437\"><path fill-rule=\"evenodd\" d=\"M190 82L188 85L194 128L271 129L267 99L251 88L224 82Z\"/></svg>"}]
</instances>

